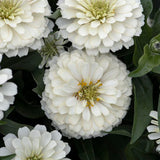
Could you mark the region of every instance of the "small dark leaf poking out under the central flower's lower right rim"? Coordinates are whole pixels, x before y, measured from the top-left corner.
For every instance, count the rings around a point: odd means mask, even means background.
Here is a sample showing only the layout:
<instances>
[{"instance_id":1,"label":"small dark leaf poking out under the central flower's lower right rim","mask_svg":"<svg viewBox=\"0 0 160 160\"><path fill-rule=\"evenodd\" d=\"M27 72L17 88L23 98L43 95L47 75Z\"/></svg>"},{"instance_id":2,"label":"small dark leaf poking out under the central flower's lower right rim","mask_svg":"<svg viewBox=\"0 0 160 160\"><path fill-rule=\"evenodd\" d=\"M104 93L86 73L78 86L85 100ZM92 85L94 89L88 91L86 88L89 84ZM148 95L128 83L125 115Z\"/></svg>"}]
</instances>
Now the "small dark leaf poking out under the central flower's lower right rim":
<instances>
[{"instance_id":1,"label":"small dark leaf poking out under the central flower's lower right rim","mask_svg":"<svg viewBox=\"0 0 160 160\"><path fill-rule=\"evenodd\" d=\"M109 132L108 134L131 137L131 127L126 125L119 126L117 128L114 128L113 131Z\"/></svg>"}]
</instances>

